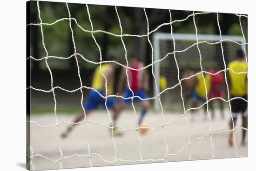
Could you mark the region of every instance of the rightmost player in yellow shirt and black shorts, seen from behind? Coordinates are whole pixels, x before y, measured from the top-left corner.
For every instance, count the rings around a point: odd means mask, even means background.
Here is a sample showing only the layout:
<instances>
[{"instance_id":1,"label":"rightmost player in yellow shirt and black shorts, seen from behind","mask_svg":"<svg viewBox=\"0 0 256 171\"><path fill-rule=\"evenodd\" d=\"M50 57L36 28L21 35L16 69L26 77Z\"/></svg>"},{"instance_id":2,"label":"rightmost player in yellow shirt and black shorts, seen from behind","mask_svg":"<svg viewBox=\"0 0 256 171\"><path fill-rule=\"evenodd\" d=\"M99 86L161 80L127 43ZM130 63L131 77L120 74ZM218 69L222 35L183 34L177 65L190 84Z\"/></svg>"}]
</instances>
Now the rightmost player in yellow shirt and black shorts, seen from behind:
<instances>
[{"instance_id":1,"label":"rightmost player in yellow shirt and black shorts, seen from behind","mask_svg":"<svg viewBox=\"0 0 256 171\"><path fill-rule=\"evenodd\" d=\"M229 63L228 68L234 72L247 72L247 65L244 61L244 53L242 49L237 50L236 59ZM243 98L247 100L247 75L246 73L236 74L231 70L228 71L228 82L230 90L230 98ZM236 125L236 119L242 114L242 126L247 128L247 102L243 99L231 100L231 114ZM230 129L233 129L233 122L230 119ZM242 145L245 145L246 130L242 130ZM233 132L229 134L229 145L233 145Z\"/></svg>"}]
</instances>

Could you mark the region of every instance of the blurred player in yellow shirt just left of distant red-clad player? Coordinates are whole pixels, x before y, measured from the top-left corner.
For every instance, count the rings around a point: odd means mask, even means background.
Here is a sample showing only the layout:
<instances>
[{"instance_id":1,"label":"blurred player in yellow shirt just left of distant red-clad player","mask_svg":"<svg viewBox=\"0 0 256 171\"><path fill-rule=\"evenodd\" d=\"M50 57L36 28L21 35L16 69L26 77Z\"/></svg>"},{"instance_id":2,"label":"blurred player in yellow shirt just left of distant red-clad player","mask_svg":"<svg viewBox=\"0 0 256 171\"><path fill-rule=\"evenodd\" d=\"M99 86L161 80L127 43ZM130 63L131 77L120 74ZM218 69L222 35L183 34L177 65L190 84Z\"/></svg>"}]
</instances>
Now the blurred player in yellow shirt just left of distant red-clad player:
<instances>
[{"instance_id":1,"label":"blurred player in yellow shirt just left of distant red-clad player","mask_svg":"<svg viewBox=\"0 0 256 171\"><path fill-rule=\"evenodd\" d=\"M196 76L196 83L195 83L195 90L192 95L192 108L197 107L197 104L202 101L203 103L206 102L206 91L207 91L207 96L209 95L210 88L211 88L211 75L208 73L203 73L204 79L205 79L205 85L204 85L204 80L202 77L202 74L199 74ZM204 115L203 119L207 119L207 105L204 105ZM191 120L194 120L194 112L195 110L192 110L192 115L191 115Z\"/></svg>"}]
</instances>

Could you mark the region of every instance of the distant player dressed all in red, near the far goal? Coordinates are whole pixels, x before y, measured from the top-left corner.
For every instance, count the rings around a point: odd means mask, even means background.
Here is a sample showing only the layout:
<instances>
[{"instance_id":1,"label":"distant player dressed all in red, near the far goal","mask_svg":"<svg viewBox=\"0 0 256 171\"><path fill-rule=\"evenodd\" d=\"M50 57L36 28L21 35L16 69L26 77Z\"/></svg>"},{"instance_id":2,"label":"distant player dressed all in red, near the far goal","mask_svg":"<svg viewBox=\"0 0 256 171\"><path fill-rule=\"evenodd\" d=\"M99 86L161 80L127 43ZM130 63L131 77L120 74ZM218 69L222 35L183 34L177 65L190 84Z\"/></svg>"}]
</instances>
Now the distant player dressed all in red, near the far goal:
<instances>
[{"instance_id":1,"label":"distant player dressed all in red, near the far goal","mask_svg":"<svg viewBox=\"0 0 256 171\"><path fill-rule=\"evenodd\" d=\"M216 73L220 71L219 67L215 65L212 69L209 70L210 73ZM211 91L209 94L209 98L223 98L223 91L222 91L222 84L223 84L223 73L219 72L215 75L211 75ZM220 110L221 110L221 117L224 119L224 104L222 99L216 99L220 104ZM209 102L209 107L212 112L212 118L215 118L215 111L213 107L213 102L215 100L212 100Z\"/></svg>"}]
</instances>

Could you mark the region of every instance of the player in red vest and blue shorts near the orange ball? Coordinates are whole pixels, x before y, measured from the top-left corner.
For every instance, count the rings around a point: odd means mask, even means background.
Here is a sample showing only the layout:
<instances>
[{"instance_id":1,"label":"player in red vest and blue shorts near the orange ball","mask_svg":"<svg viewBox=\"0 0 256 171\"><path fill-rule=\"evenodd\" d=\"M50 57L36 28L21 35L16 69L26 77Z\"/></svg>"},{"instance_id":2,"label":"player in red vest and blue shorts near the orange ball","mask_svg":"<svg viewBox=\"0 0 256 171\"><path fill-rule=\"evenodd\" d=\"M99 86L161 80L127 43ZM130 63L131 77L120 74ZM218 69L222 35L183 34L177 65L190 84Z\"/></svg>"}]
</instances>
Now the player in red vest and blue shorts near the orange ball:
<instances>
[{"instance_id":1,"label":"player in red vest and blue shorts near the orange ball","mask_svg":"<svg viewBox=\"0 0 256 171\"><path fill-rule=\"evenodd\" d=\"M134 68L134 69L140 69L144 65L137 56L131 55L129 58L129 67ZM148 92L149 90L149 76L148 76L148 71L147 69L143 69L140 71L135 71L128 69L128 80L129 80L129 85L131 90L134 92L134 96L139 96L141 99L147 99L148 96L145 93ZM124 86L124 84L126 85ZM124 88L125 87L125 88ZM123 91L124 89L124 91ZM128 83L127 83L127 75L126 75L126 69L123 68L121 71L120 79L119 79L119 84L118 84L118 92L122 94L124 98L130 98L133 96L132 92L128 88ZM134 102L139 102L142 105L142 111L140 118L138 120L138 124L141 125L142 120L144 116L146 115L149 107L149 101L148 100L141 100L138 97L135 97L133 99ZM122 99L121 101L121 106L122 108L125 107L126 104L131 104L131 99Z\"/></svg>"}]
</instances>

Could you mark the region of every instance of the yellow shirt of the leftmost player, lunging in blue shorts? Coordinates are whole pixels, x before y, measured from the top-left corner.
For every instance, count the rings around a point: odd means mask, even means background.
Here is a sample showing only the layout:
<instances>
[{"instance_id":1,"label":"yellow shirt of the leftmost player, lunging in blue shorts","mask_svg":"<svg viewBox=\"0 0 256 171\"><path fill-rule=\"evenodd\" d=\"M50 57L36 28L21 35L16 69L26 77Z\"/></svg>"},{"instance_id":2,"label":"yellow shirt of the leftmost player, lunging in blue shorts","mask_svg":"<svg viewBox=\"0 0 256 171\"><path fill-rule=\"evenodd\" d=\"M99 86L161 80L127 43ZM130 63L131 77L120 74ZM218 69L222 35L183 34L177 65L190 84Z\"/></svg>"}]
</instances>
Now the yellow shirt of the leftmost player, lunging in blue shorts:
<instances>
[{"instance_id":1,"label":"yellow shirt of the leftmost player, lunging in blue shorts","mask_svg":"<svg viewBox=\"0 0 256 171\"><path fill-rule=\"evenodd\" d=\"M114 71L110 66L111 64L102 64L101 65L101 70L100 70L100 66L97 66L97 68L94 71L94 76L93 76L93 82L92 82L92 88L94 88L95 90L103 90L103 88L105 87L105 79L101 74L102 73L107 76L107 74L109 72L109 74L112 74L110 76L110 80L108 80L107 86L108 86L108 94L113 94L113 87L114 87ZM105 91L105 90L104 90Z\"/></svg>"}]
</instances>

